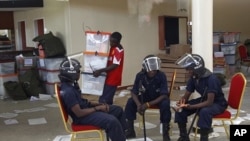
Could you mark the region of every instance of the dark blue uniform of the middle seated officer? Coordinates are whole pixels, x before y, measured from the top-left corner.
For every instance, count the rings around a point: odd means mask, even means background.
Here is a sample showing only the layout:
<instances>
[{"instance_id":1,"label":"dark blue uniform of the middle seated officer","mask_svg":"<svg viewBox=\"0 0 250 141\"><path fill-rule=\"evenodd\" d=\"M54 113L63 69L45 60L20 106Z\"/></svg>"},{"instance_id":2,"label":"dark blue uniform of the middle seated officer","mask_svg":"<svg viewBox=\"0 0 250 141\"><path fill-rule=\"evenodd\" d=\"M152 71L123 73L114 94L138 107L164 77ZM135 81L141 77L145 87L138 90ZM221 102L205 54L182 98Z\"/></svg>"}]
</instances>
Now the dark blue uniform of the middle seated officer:
<instances>
[{"instance_id":1,"label":"dark blue uniform of the middle seated officer","mask_svg":"<svg viewBox=\"0 0 250 141\"><path fill-rule=\"evenodd\" d=\"M140 84L144 91L142 92L143 102L149 102L160 95L168 95L168 85L166 75L158 71L156 75L152 78L147 76L146 72L139 72L136 75L132 93L141 97L140 93ZM170 111L170 100L169 98L163 99L158 105L160 109L160 121L161 123L169 123L171 120L171 111ZM125 114L128 120L135 120L137 113L137 106L132 98L129 98L125 107Z\"/></svg>"}]
</instances>

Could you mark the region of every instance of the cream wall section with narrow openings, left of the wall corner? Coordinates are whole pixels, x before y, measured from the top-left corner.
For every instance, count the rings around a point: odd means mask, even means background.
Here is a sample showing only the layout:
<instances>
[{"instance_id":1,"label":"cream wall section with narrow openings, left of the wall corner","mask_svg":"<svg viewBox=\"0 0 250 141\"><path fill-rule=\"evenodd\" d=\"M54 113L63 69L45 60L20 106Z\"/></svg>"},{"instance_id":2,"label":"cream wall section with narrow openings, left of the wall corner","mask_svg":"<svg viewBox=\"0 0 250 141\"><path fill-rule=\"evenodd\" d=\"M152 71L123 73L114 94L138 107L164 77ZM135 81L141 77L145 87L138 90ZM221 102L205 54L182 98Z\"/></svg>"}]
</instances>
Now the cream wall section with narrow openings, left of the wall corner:
<instances>
[{"instance_id":1,"label":"cream wall section with narrow openings, left of the wall corner","mask_svg":"<svg viewBox=\"0 0 250 141\"><path fill-rule=\"evenodd\" d=\"M66 34L66 18L67 18L67 2L59 2L55 0L44 0L44 8L35 8L30 10L22 10L14 12L15 35L17 50L20 50L18 45L18 22L25 21L26 28L26 43L28 47L35 47L36 43L32 41L35 35L34 21L44 19L45 33L52 31L55 36L58 36L67 44Z\"/></svg>"}]
</instances>

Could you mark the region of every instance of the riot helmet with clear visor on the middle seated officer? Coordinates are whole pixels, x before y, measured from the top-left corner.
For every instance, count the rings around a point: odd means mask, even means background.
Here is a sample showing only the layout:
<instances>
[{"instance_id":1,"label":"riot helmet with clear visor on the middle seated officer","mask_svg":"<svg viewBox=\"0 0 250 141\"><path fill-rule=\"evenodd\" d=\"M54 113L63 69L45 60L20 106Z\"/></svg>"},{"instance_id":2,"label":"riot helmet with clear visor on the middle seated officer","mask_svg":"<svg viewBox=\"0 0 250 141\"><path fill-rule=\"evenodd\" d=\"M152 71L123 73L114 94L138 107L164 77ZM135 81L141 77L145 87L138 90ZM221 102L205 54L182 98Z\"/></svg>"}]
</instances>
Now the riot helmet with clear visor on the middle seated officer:
<instances>
[{"instance_id":1,"label":"riot helmet with clear visor on the middle seated officer","mask_svg":"<svg viewBox=\"0 0 250 141\"><path fill-rule=\"evenodd\" d=\"M161 59L155 55L148 55L143 59L142 67L146 72L160 70Z\"/></svg>"}]
</instances>

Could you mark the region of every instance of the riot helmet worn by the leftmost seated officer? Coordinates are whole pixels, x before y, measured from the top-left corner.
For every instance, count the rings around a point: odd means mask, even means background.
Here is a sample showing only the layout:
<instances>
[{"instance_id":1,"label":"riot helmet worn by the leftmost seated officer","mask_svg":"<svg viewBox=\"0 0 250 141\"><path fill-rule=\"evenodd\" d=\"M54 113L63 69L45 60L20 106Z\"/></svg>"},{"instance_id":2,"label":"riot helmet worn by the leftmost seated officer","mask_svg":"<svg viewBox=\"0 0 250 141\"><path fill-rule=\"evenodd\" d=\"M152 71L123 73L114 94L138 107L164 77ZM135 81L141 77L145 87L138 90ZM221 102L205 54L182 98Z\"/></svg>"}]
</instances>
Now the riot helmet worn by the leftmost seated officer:
<instances>
[{"instance_id":1,"label":"riot helmet worn by the leftmost seated officer","mask_svg":"<svg viewBox=\"0 0 250 141\"><path fill-rule=\"evenodd\" d=\"M66 58L60 64L59 78L61 81L76 82L80 76L81 64L76 59Z\"/></svg>"}]
</instances>

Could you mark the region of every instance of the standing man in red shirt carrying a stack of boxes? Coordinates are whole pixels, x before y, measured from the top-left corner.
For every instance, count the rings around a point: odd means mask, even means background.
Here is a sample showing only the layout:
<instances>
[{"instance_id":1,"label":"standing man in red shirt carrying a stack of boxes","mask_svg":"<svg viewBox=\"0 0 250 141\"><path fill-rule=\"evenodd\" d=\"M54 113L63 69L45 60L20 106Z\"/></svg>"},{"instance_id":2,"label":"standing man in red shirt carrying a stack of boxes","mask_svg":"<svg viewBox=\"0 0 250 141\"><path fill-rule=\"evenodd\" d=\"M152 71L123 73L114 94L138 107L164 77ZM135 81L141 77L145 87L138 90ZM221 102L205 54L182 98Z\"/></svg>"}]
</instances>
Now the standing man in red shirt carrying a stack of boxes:
<instances>
[{"instance_id":1,"label":"standing man in red shirt carrying a stack of boxes","mask_svg":"<svg viewBox=\"0 0 250 141\"><path fill-rule=\"evenodd\" d=\"M124 62L124 49L120 44L122 35L119 32L113 32L110 36L110 50L106 68L95 70L93 75L98 77L106 72L106 81L102 95L99 97L100 103L113 104L113 98L118 86L122 82L122 71Z\"/></svg>"}]
</instances>

